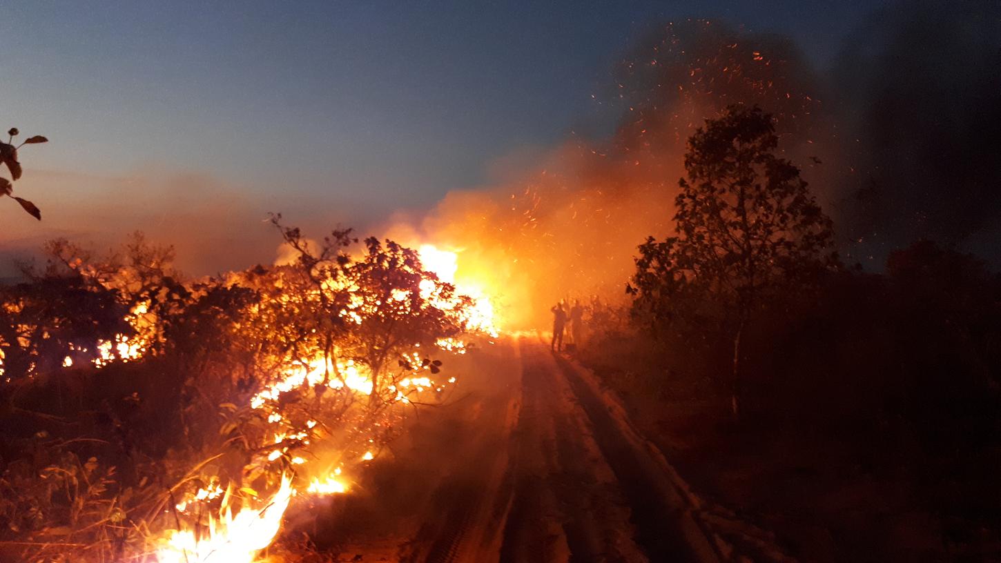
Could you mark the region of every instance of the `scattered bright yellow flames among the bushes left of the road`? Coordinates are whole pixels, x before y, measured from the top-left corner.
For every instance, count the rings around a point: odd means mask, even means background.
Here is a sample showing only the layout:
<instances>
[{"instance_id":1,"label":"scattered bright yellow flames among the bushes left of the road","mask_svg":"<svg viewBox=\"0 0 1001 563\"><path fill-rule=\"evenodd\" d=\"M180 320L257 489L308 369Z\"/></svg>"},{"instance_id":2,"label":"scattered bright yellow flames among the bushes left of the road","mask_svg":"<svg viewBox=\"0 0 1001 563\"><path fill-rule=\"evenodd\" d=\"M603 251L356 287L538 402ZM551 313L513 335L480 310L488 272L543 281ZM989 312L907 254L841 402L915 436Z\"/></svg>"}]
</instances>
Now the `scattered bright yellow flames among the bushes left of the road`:
<instances>
[{"instance_id":1,"label":"scattered bright yellow flames among the bushes left of the road","mask_svg":"<svg viewBox=\"0 0 1001 563\"><path fill-rule=\"evenodd\" d=\"M477 285L456 281L458 254L423 245L418 256L423 270L434 274L425 276L418 284L419 297L423 300L420 310L437 309L452 320L458 319L455 326L470 333L495 336L497 328L490 300ZM340 284L341 281L330 283ZM348 279L336 287L324 285L320 291L346 292L347 299L339 316L362 328L368 319L385 308L410 307L414 302L411 289L398 288L392 289L388 298L373 300L368 297L366 300L364 294L357 291L359 288L350 283ZM453 289L444 284L452 285ZM156 345L162 342L162 334L158 332L158 319L150 306L148 302L133 306L124 318L132 329L128 335L117 334L112 339L97 341L95 353L86 356L88 360L102 368L113 362L134 361L155 353ZM434 345L440 350L461 354L467 350L468 342L450 336L438 338ZM72 344L69 348L74 356L65 356L64 367L74 366L74 358L80 363L87 352ZM274 541L283 515L296 494L323 496L348 492L351 481L344 473L349 473L352 467L365 465L378 455L380 440L391 422L385 419L373 423L363 410L364 405L376 396L383 401L381 404L387 408L386 412L392 412L394 405L408 405L420 393L439 393L455 383L455 377L436 380L434 376L439 373L441 362L427 358L424 352L419 343L413 344L409 351L405 348L394 351L399 354L396 358L399 367L390 374L386 374L385 368L373 373L373 369L378 368L358 356L324 353L315 346L298 350L300 355L295 357L278 358L276 365L281 367L276 375L258 387L242 408L232 403L220 407L226 406L228 412L240 411L241 415L249 411L252 416L266 421L264 443L254 444L253 463L263 468L255 475L266 470L273 478L280 473L280 486L270 495L258 498L252 489L242 487L239 481L227 484L226 478L219 475L202 476L205 481L200 487L182 494L179 502L171 501L170 527L176 529L167 529L154 537L154 561L254 563L260 552ZM3 352L0 352L0 375L3 374L2 360ZM335 421L321 419L308 411L290 412L284 405L289 397L294 401L297 393L315 393L317 399L334 397L346 406ZM316 443L322 443L325 452L322 456L310 449L316 447ZM316 471L311 467L319 463L324 464L321 467L331 467L331 456L344 460L346 465L335 462L332 471ZM234 490L239 490L241 496L237 497Z\"/></svg>"}]
</instances>

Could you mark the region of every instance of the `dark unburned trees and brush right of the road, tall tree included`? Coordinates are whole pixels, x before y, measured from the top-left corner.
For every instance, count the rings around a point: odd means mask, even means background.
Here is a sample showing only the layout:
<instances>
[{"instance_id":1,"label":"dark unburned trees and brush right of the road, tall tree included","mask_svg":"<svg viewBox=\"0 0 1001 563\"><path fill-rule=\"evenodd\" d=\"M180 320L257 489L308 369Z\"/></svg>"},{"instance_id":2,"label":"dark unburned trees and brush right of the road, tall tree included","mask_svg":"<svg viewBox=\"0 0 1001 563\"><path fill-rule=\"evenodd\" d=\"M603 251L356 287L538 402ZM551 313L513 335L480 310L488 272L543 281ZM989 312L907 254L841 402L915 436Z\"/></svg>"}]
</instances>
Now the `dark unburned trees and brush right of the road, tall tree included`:
<instances>
[{"instance_id":1,"label":"dark unburned trees and brush right of the road, tall tree included","mask_svg":"<svg viewBox=\"0 0 1001 563\"><path fill-rule=\"evenodd\" d=\"M1001 276L917 241L867 273L730 108L690 139L677 235L581 358L696 488L810 561L1001 554Z\"/></svg>"}]
</instances>

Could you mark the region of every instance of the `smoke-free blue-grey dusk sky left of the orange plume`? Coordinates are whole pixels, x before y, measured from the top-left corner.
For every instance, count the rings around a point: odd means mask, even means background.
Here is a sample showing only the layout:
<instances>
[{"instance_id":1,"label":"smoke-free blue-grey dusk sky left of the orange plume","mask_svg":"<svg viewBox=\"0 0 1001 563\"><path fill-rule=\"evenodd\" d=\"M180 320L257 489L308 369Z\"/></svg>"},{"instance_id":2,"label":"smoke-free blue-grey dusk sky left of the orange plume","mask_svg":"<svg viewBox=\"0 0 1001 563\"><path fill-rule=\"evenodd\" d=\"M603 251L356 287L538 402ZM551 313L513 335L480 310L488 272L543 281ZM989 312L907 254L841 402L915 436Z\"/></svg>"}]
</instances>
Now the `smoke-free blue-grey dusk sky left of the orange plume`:
<instances>
[{"instance_id":1,"label":"smoke-free blue-grey dusk sky left of the orange plume","mask_svg":"<svg viewBox=\"0 0 1001 563\"><path fill-rule=\"evenodd\" d=\"M265 258L218 248L273 237L261 225L268 211L369 224L480 185L498 160L571 131L602 134L613 121L599 103L612 68L657 22L710 17L775 31L825 66L874 7L10 3L0 127L50 142L22 150L17 184L45 220L0 207L0 261L52 236L103 242L140 228L206 233L188 246L217 251L193 269L246 265Z\"/></svg>"}]
</instances>

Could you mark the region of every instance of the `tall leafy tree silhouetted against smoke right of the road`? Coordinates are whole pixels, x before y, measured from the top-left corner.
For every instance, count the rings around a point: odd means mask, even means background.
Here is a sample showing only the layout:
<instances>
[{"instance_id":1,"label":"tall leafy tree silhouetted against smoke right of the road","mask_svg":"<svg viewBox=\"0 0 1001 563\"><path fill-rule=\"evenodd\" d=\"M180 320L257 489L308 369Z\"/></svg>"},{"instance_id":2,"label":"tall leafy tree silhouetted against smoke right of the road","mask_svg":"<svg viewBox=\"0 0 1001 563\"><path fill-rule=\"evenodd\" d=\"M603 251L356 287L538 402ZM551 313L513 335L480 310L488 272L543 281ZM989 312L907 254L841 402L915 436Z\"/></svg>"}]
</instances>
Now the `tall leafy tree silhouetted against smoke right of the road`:
<instances>
[{"instance_id":1,"label":"tall leafy tree silhouetted against smoke right of the road","mask_svg":"<svg viewBox=\"0 0 1001 563\"><path fill-rule=\"evenodd\" d=\"M775 152L772 116L730 106L689 139L676 236L640 246L628 291L656 325L713 321L733 343L731 404L740 412L741 336L762 299L837 263L831 220Z\"/></svg>"}]
</instances>

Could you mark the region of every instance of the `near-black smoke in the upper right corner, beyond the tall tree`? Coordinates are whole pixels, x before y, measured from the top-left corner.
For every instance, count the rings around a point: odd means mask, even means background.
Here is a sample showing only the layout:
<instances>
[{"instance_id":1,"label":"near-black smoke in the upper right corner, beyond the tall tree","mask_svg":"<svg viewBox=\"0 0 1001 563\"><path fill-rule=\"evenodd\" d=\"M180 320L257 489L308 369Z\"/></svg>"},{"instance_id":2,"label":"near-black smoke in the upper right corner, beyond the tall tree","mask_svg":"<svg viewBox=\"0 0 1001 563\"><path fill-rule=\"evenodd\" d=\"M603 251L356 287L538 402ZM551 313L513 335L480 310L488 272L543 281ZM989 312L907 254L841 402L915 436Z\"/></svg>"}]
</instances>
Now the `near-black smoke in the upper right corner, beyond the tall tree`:
<instances>
[{"instance_id":1,"label":"near-black smoke in the upper right corner, beyond the tall tree","mask_svg":"<svg viewBox=\"0 0 1001 563\"><path fill-rule=\"evenodd\" d=\"M879 257L928 238L1001 259L1001 4L878 12L832 84L858 171L841 228Z\"/></svg>"}]
</instances>

